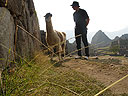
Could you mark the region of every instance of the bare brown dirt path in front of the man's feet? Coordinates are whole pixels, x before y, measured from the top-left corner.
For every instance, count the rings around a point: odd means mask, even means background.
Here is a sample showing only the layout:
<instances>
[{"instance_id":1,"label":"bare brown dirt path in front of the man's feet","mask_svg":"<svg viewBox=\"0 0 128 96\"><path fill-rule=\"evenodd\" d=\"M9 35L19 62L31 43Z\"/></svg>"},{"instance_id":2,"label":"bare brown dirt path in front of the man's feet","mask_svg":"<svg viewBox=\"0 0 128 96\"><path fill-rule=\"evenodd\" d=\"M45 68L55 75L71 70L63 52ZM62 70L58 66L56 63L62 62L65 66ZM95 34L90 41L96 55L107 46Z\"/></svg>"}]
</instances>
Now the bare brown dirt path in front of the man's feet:
<instances>
[{"instance_id":1,"label":"bare brown dirt path in front of the man's feet","mask_svg":"<svg viewBox=\"0 0 128 96\"><path fill-rule=\"evenodd\" d=\"M128 74L128 58L102 56L91 57L88 61L71 59L63 64L71 69L88 74L105 86L112 84ZM128 78L110 88L114 94L128 94Z\"/></svg>"}]
</instances>

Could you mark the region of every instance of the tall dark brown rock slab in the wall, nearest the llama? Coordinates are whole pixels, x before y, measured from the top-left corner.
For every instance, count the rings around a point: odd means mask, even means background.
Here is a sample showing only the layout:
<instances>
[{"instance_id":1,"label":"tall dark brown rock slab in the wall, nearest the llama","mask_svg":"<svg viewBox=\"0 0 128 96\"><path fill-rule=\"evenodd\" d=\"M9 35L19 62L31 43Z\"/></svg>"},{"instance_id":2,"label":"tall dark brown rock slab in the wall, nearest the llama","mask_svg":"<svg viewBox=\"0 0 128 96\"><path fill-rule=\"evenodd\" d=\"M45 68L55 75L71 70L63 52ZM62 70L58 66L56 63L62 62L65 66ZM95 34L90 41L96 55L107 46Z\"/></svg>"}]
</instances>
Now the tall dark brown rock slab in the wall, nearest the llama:
<instances>
[{"instance_id":1,"label":"tall dark brown rock slab in the wall, nearest the llama","mask_svg":"<svg viewBox=\"0 0 128 96\"><path fill-rule=\"evenodd\" d=\"M30 2L31 1L31 2ZM22 57L31 58L34 55L35 51L40 50L40 29L36 13L31 13L28 5L29 3L33 4L32 0L24 2L24 10L20 20L18 18L17 24L20 25L23 29L18 28L17 32L17 42L16 42L16 51ZM34 5L32 7L35 10ZM29 35L29 34L31 35Z\"/></svg>"}]
</instances>

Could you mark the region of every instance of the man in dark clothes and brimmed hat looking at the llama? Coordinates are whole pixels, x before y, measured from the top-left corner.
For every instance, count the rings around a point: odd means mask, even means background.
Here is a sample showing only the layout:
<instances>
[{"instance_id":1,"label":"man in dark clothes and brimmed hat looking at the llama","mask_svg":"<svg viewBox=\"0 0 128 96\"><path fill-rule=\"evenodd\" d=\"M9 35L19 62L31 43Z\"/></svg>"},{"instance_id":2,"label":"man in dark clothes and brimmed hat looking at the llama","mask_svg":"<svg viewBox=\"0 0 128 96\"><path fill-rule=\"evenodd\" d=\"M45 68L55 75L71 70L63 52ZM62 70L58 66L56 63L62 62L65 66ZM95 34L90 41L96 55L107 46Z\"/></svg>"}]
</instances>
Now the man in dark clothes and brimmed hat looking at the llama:
<instances>
[{"instance_id":1,"label":"man in dark clothes and brimmed hat looking at the llama","mask_svg":"<svg viewBox=\"0 0 128 96\"><path fill-rule=\"evenodd\" d=\"M76 37L76 44L78 49L78 57L81 58L81 38L85 46L85 59L88 59L89 57L89 47L88 47L88 41L87 41L87 25L89 23L89 16L87 12L84 9L79 8L79 3L77 1L74 1L72 3L72 8L75 10L73 17L75 22L75 36Z\"/></svg>"}]
</instances>

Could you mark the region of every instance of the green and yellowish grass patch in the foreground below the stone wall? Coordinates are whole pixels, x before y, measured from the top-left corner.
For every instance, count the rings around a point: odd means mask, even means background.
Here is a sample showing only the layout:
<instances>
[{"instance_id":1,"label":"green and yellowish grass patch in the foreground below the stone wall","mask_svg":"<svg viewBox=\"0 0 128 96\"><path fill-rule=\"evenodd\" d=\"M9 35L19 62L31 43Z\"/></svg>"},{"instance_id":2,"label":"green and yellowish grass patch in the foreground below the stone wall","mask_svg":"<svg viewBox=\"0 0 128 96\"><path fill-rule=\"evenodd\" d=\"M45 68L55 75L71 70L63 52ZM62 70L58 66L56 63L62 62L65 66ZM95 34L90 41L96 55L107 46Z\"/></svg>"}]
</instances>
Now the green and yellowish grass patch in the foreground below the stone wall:
<instances>
[{"instance_id":1,"label":"green and yellowish grass patch in the foreground below the stone wall","mask_svg":"<svg viewBox=\"0 0 128 96\"><path fill-rule=\"evenodd\" d=\"M47 56L40 55L35 61L15 71L2 73L3 96L94 96L104 85L86 74L76 72L64 66L53 66ZM111 91L101 96L114 96Z\"/></svg>"}]
</instances>

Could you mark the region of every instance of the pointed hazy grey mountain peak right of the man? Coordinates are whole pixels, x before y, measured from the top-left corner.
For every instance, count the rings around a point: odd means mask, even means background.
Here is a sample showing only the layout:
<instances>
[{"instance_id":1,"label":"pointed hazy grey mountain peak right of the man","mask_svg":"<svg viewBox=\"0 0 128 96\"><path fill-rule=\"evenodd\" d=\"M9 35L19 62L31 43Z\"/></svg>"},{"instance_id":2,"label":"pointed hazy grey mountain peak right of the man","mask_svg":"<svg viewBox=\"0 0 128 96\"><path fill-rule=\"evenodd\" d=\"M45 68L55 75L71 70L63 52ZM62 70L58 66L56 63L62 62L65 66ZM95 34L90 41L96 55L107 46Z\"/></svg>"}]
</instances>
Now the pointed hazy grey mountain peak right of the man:
<instances>
[{"instance_id":1,"label":"pointed hazy grey mountain peak right of the man","mask_svg":"<svg viewBox=\"0 0 128 96\"><path fill-rule=\"evenodd\" d=\"M95 47L106 47L112 40L101 30L99 30L92 38L91 44Z\"/></svg>"}]
</instances>

